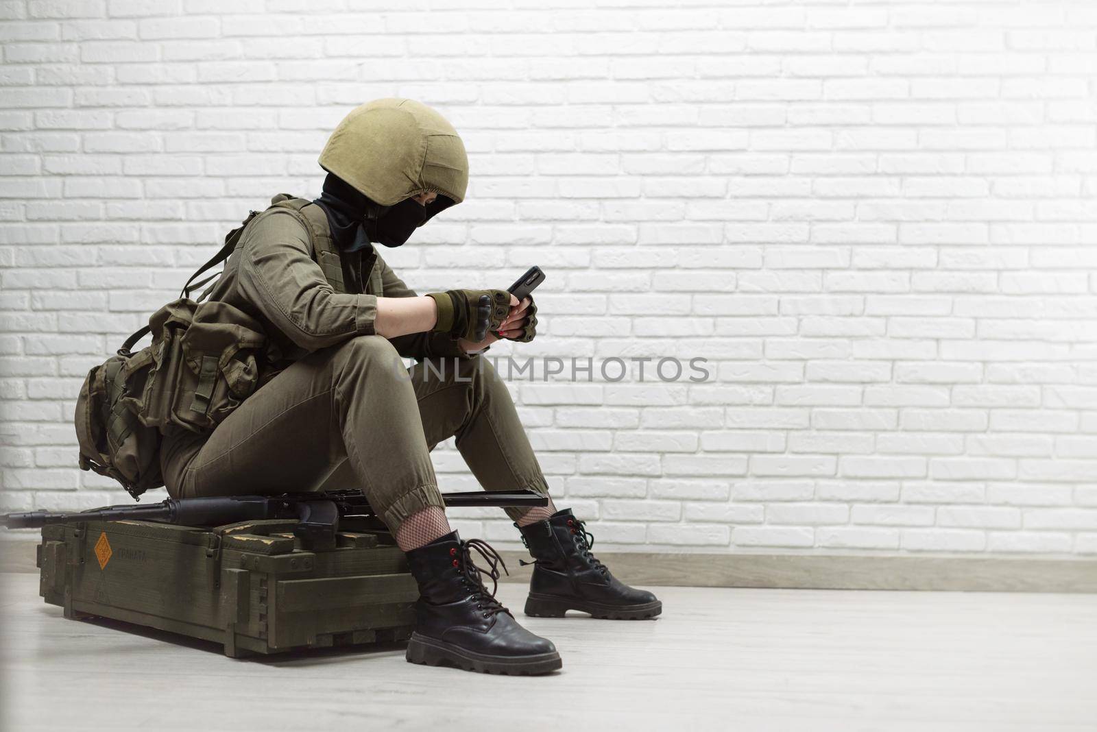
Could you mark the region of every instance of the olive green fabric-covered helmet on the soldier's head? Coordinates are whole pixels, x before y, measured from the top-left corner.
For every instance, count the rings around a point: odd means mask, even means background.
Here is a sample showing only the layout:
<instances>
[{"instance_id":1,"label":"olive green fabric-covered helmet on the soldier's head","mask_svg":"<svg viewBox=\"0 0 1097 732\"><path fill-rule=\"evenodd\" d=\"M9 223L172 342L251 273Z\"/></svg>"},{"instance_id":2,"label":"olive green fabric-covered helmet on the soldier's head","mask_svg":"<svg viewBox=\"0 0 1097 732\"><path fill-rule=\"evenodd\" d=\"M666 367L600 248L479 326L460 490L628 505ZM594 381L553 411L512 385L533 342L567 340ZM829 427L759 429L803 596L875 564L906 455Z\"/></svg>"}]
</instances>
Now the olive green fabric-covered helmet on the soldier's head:
<instances>
[{"instance_id":1,"label":"olive green fabric-covered helmet on the soldier's head","mask_svg":"<svg viewBox=\"0 0 1097 732\"><path fill-rule=\"evenodd\" d=\"M459 204L468 187L468 156L457 131L410 99L377 99L351 110L324 146L320 167L382 206L429 192Z\"/></svg>"}]
</instances>

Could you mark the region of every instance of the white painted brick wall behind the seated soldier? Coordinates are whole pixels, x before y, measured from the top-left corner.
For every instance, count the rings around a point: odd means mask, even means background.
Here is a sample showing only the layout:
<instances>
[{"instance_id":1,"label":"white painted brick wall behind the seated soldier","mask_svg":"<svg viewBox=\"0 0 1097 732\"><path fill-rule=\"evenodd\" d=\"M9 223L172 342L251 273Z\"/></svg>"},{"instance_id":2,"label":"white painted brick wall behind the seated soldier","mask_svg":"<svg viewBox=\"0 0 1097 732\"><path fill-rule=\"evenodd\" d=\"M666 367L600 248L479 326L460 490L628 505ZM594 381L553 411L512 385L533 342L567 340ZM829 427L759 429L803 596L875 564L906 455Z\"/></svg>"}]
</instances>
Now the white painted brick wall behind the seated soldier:
<instances>
[{"instance_id":1,"label":"white painted brick wall behind the seated soldier","mask_svg":"<svg viewBox=\"0 0 1097 732\"><path fill-rule=\"evenodd\" d=\"M538 263L516 353L710 359L512 385L600 545L1097 552L1097 7L668 4L0 2L2 508L124 500L73 467L86 370L403 95L473 165L414 286Z\"/></svg>"}]
</instances>

